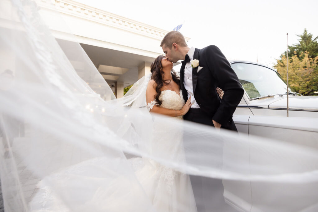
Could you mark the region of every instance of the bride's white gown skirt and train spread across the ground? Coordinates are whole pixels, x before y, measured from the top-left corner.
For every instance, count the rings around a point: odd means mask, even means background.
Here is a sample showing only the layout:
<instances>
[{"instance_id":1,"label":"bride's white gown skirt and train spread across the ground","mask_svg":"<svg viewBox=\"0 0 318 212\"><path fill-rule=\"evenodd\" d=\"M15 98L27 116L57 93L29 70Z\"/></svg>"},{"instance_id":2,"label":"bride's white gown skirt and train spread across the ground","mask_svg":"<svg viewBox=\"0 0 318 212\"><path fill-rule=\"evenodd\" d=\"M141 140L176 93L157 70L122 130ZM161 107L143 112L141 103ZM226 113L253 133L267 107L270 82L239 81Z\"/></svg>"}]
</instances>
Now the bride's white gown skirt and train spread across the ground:
<instances>
[{"instance_id":1,"label":"bride's white gown skirt and train spread across the ground","mask_svg":"<svg viewBox=\"0 0 318 212\"><path fill-rule=\"evenodd\" d=\"M113 161L114 166L121 163L118 160ZM117 173L111 176L105 168L110 163L107 158L94 158L51 174L38 183L30 210L197 211L188 175L148 159L129 162L136 179ZM72 204L64 204L63 197L72 199Z\"/></svg>"}]
</instances>

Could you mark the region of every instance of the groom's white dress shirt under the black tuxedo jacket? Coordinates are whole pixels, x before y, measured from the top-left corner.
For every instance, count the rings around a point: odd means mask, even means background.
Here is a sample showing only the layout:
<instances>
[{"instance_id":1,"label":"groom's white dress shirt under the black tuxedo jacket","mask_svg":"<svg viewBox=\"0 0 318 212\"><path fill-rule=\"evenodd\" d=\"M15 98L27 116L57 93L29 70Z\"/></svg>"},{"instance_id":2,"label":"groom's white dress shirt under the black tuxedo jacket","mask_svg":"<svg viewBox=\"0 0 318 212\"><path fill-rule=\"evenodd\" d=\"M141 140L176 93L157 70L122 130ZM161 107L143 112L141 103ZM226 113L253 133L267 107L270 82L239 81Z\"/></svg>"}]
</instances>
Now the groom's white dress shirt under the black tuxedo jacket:
<instances>
[{"instance_id":1,"label":"groom's white dress shirt under the black tuxedo jacket","mask_svg":"<svg viewBox=\"0 0 318 212\"><path fill-rule=\"evenodd\" d=\"M193 60L195 48L191 47L187 53L187 55L190 58L190 61ZM192 66L191 63L186 63L184 67L184 88L188 92L188 98L191 96L191 108L200 108L200 106L197 104L196 99L194 99L193 95L193 87L192 87ZM188 99L184 99L187 101Z\"/></svg>"}]
</instances>

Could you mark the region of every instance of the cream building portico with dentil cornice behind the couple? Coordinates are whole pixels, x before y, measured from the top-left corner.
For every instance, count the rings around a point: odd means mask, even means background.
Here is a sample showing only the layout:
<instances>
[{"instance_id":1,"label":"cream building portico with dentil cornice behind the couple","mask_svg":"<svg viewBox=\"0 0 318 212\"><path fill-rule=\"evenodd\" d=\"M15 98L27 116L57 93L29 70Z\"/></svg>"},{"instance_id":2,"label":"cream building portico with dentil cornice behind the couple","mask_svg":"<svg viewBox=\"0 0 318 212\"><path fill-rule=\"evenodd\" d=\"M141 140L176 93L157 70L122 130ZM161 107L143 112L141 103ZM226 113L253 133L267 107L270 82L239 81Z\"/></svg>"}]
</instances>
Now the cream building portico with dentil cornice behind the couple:
<instances>
[{"instance_id":1,"label":"cream building portico with dentil cornice behind the couple","mask_svg":"<svg viewBox=\"0 0 318 212\"><path fill-rule=\"evenodd\" d=\"M37 3L53 35L75 39L117 98L124 87L150 73L151 62L163 53L160 42L168 31L71 0ZM57 24L62 22L67 28Z\"/></svg>"}]
</instances>

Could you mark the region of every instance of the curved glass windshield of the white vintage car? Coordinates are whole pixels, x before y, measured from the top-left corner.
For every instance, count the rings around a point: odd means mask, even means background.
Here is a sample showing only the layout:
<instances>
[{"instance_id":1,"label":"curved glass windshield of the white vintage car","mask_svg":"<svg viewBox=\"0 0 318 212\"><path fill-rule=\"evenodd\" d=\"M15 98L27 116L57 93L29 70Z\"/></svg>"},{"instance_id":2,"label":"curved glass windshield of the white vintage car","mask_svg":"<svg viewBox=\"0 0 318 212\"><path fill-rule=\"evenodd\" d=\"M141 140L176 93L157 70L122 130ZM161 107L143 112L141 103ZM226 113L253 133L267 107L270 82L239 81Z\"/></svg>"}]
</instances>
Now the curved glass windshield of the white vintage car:
<instances>
[{"instance_id":1,"label":"curved glass windshield of the white vintage car","mask_svg":"<svg viewBox=\"0 0 318 212\"><path fill-rule=\"evenodd\" d=\"M285 81L269 68L248 63L233 63L231 67L250 99L287 92ZM288 91L294 92L290 88Z\"/></svg>"}]
</instances>

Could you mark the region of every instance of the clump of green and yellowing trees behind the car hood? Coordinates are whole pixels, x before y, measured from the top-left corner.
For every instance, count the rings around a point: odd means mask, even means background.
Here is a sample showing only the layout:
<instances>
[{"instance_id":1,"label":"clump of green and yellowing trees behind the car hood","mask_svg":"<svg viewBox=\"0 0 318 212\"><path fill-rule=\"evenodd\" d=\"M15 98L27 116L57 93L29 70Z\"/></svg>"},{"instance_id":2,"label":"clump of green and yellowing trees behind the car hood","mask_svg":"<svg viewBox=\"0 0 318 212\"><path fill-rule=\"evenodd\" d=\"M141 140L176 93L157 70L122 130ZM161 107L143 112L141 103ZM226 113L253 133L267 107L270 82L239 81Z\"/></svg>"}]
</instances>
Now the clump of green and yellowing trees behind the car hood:
<instances>
[{"instance_id":1,"label":"clump of green and yellowing trees behind the car hood","mask_svg":"<svg viewBox=\"0 0 318 212\"><path fill-rule=\"evenodd\" d=\"M289 86L302 95L317 95L318 92L318 43L317 38L304 30L299 43L288 46ZM276 61L274 68L286 80L286 51Z\"/></svg>"}]
</instances>

